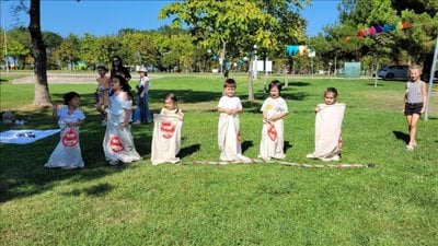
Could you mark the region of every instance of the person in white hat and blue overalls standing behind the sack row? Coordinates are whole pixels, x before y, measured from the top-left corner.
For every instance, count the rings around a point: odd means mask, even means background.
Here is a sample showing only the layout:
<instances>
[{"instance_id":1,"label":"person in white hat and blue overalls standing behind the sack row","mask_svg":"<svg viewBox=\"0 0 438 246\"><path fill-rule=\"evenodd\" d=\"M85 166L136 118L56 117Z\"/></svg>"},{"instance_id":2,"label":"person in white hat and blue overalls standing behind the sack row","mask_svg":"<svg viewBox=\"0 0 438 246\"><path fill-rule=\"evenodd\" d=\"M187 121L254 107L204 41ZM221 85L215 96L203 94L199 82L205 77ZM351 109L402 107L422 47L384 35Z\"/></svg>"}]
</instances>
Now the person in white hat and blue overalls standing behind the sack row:
<instances>
[{"instance_id":1,"label":"person in white hat and blue overalls standing behind the sack row","mask_svg":"<svg viewBox=\"0 0 438 246\"><path fill-rule=\"evenodd\" d=\"M137 107L134 113L134 124L152 122L152 117L149 110L149 85L150 79L145 67L137 70L140 74L140 83L137 85Z\"/></svg>"}]
</instances>

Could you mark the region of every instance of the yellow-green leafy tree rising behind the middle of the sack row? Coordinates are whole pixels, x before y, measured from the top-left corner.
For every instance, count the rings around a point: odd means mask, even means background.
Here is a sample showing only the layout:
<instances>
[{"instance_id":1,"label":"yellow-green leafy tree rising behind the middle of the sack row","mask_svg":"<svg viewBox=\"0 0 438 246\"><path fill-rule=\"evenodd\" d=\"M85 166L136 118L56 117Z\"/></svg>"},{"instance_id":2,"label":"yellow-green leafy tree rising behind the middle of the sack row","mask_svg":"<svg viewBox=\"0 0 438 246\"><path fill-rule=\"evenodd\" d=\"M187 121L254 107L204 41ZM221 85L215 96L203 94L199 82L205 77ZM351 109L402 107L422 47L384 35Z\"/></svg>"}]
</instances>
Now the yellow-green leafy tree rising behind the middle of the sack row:
<instances>
[{"instance_id":1,"label":"yellow-green leafy tree rising behind the middle of the sack row","mask_svg":"<svg viewBox=\"0 0 438 246\"><path fill-rule=\"evenodd\" d=\"M254 44L264 49L278 49L276 31L280 22L274 14L276 5L299 3L300 0L269 1L197 1L185 0L165 5L159 19L176 16L173 26L183 23L189 27L194 42L205 48L219 49L221 66L224 65L227 46L238 47L241 52L252 50ZM270 9L269 9L270 8ZM288 8L286 8L288 10ZM270 11L270 12L269 12ZM296 23L289 23L296 26ZM249 101L254 101L252 75L249 77Z\"/></svg>"}]
</instances>

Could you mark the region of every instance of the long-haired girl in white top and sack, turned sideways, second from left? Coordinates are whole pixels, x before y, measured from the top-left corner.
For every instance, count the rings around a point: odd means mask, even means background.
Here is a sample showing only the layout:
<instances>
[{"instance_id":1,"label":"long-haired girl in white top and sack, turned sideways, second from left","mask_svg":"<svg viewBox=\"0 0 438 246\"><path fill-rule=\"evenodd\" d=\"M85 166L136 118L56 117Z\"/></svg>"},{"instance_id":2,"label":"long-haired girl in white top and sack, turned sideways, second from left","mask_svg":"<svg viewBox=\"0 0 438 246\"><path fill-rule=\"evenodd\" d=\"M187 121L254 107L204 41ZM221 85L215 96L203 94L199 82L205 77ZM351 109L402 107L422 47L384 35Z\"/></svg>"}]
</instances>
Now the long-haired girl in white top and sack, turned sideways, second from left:
<instances>
[{"instance_id":1,"label":"long-haired girl in white top and sack, turned sideways, second from left","mask_svg":"<svg viewBox=\"0 0 438 246\"><path fill-rule=\"evenodd\" d=\"M103 140L105 159L111 165L138 161L140 155L134 147L129 125L132 109L130 86L120 74L112 78L111 86L114 93L110 96L110 107L106 109L107 122Z\"/></svg>"}]
</instances>

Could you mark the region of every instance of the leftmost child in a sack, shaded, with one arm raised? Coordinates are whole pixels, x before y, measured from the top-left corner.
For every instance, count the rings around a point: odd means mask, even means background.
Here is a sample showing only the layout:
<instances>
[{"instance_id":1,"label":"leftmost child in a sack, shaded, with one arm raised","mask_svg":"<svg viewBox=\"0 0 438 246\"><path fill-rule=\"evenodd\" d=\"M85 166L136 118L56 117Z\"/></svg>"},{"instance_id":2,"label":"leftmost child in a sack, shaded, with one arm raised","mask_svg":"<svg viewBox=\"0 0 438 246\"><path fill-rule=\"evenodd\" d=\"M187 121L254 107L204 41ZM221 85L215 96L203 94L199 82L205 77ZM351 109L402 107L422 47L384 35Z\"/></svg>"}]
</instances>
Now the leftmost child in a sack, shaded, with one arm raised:
<instances>
[{"instance_id":1,"label":"leftmost child in a sack, shaded, with one arm raised","mask_svg":"<svg viewBox=\"0 0 438 246\"><path fill-rule=\"evenodd\" d=\"M64 169L83 167L79 144L79 126L83 124L85 115L79 109L79 97L78 93L69 92L64 95L64 103L67 106L58 108L54 104L54 118L58 120L61 133L58 145L44 167L61 167Z\"/></svg>"}]
</instances>

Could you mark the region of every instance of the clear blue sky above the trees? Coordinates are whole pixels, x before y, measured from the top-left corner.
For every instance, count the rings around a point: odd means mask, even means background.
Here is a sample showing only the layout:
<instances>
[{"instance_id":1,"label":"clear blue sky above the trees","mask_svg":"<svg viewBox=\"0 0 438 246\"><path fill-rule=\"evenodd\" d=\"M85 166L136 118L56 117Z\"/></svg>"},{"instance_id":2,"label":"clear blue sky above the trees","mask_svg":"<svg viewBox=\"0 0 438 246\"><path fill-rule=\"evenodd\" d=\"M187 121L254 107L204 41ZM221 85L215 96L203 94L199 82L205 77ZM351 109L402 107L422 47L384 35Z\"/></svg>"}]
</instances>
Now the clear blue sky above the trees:
<instances>
[{"instance_id":1,"label":"clear blue sky above the trees","mask_svg":"<svg viewBox=\"0 0 438 246\"><path fill-rule=\"evenodd\" d=\"M25 2L28 2L26 0ZM42 30L68 36L70 33L82 36L90 33L95 36L117 34L120 28L157 30L171 23L170 19L158 20L162 7L171 3L168 0L42 0ZM323 26L335 24L336 5L341 0L312 0L306 7L302 16L308 21L307 34L315 36ZM11 8L18 0L0 0L1 27L28 25L28 15L12 14Z\"/></svg>"}]
</instances>

